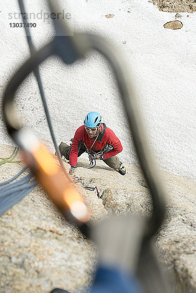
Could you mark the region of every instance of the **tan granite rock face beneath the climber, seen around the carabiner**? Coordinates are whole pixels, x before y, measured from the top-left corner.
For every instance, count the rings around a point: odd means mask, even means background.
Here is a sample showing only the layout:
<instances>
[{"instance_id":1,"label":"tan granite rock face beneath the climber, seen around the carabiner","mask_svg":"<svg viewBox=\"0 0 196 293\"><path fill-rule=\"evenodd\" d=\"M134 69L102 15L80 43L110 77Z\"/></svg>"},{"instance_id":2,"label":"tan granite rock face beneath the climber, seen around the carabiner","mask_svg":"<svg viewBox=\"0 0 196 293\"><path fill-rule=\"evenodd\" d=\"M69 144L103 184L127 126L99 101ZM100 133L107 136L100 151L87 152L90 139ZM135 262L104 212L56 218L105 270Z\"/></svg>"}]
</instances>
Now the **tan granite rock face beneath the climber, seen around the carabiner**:
<instances>
[{"instance_id":1,"label":"tan granite rock face beneath the climber, seen around the carabiner","mask_svg":"<svg viewBox=\"0 0 196 293\"><path fill-rule=\"evenodd\" d=\"M0 145L0 157L13 147ZM65 162L65 167L69 165ZM77 188L92 210L91 222L107 214L152 213L148 185L139 167L126 166L125 176L104 162L87 169L88 160L78 160L75 175L93 191ZM21 163L0 166L0 182L22 169ZM27 173L27 172L26 172ZM161 171L166 193L166 221L157 233L156 246L161 263L175 279L176 292L196 292L196 182ZM76 227L68 224L36 187L21 202L0 216L0 292L48 293L53 288L79 292L92 281L97 248Z\"/></svg>"}]
</instances>

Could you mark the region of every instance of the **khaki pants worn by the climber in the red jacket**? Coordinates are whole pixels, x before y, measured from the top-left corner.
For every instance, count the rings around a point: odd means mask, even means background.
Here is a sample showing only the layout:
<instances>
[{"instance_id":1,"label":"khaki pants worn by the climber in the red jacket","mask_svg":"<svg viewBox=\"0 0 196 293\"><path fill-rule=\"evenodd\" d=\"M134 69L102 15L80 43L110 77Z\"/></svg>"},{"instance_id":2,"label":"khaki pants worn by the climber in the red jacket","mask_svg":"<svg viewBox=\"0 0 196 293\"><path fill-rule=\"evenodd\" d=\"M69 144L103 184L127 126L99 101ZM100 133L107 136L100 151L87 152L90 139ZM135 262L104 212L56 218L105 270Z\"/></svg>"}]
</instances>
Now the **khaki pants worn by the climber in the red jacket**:
<instances>
[{"instance_id":1,"label":"khaki pants worn by the climber in the red jacket","mask_svg":"<svg viewBox=\"0 0 196 293\"><path fill-rule=\"evenodd\" d=\"M59 146L61 154L65 157L66 160L69 160L69 154L71 150L71 146L68 146L65 143L61 143ZM86 151L85 146L81 146L78 152L78 157L80 157ZM108 159L103 160L110 168L119 169L121 166L120 160L117 156L110 157Z\"/></svg>"}]
</instances>

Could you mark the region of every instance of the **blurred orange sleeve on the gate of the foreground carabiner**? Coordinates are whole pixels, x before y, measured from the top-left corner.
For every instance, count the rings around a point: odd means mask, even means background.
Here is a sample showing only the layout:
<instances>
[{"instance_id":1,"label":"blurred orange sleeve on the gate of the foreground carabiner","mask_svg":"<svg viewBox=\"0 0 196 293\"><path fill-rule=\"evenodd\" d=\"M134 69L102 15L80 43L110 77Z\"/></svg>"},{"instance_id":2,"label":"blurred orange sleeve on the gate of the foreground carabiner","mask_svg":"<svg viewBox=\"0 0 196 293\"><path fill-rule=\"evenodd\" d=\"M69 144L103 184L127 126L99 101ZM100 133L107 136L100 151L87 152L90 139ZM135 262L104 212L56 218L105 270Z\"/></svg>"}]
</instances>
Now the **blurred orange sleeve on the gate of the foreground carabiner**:
<instances>
[{"instance_id":1,"label":"blurred orange sleeve on the gate of the foreground carabiner","mask_svg":"<svg viewBox=\"0 0 196 293\"><path fill-rule=\"evenodd\" d=\"M68 220L77 224L89 220L90 213L83 197L42 143L36 144L30 152L22 150L22 160L31 168L47 195Z\"/></svg>"}]
</instances>

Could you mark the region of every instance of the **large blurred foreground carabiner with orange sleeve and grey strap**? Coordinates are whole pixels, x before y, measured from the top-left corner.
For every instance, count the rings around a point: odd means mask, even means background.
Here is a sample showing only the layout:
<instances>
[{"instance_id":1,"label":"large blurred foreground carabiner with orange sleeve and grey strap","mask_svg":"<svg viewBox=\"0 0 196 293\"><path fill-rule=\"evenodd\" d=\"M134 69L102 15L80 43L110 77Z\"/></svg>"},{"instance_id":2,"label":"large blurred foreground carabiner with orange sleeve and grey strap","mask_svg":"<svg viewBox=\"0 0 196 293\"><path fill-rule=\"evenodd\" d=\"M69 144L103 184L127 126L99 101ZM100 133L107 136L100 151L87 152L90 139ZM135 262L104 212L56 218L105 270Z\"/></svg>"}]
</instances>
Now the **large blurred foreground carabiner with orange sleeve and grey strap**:
<instances>
[{"instance_id":1,"label":"large blurred foreground carabiner with orange sleeve and grey strap","mask_svg":"<svg viewBox=\"0 0 196 293\"><path fill-rule=\"evenodd\" d=\"M22 0L19 0L22 3ZM49 0L51 12L59 11L56 0ZM22 10L24 12L24 9ZM122 261L130 261L130 270L133 272L143 289L147 293L167 293L168 289L159 270L158 261L152 249L152 236L160 228L164 219L165 204L164 192L161 188L157 170L154 167L146 133L142 125L140 112L137 106L137 97L131 82L126 64L118 51L110 44L93 34L69 34L68 25L63 20L53 20L55 27L54 39L37 52L32 52L28 59L14 74L7 84L3 96L3 117L9 135L19 145L30 160L24 162L32 169L36 179L43 186L54 204L60 209L65 218L75 223L87 236L100 245L106 255L111 255L109 244L116 243L114 257L117 257L116 266ZM29 38L28 38L29 39ZM30 40L30 39L29 39ZM152 217L149 220L136 220L132 217L112 218L108 222L100 223L101 228L91 228L90 213L83 198L70 185L66 172L54 167L54 160L39 140L28 134L17 119L14 108L16 90L31 71L36 72L39 64L49 56L57 55L64 63L71 64L78 59L85 59L90 50L97 50L111 65L119 92L124 103L128 122L131 128L135 149L146 177L152 195ZM56 148L56 151L59 150ZM58 152L59 154L59 152ZM31 161L32 163L29 163ZM111 233L111 230L117 230ZM94 231L94 236L93 236ZM106 239L109 240L106 243ZM126 239L126 240L125 240ZM106 245L107 244L107 245ZM117 248L122 248L124 257ZM128 249L130 247L130 250ZM106 258L103 257L103 260ZM116 260L116 258L115 258Z\"/></svg>"}]
</instances>

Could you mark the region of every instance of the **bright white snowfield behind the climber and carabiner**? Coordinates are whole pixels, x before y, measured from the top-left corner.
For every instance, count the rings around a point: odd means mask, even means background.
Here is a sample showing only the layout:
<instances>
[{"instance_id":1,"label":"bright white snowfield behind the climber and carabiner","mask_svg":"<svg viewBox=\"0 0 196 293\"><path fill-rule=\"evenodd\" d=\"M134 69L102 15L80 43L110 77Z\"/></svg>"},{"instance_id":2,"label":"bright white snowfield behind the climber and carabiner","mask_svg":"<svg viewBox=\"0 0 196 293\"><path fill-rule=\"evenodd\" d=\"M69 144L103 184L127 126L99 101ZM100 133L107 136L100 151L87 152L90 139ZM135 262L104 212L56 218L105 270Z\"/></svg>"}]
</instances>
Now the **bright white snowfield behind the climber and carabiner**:
<instances>
[{"instance_id":1,"label":"bright white snowfield behind the climber and carabiner","mask_svg":"<svg viewBox=\"0 0 196 293\"><path fill-rule=\"evenodd\" d=\"M174 20L174 15L160 13L148 0L112 1L112 5L106 0L74 0L66 2L67 5L65 0L60 0L59 3L61 11L64 9L71 13L68 23L74 31L97 32L121 51L138 94L154 157L161 168L195 179L196 83L193 52L196 47L196 14L187 18L185 13L181 19L183 29L171 31L165 30L163 24ZM128 12L129 8L131 12ZM28 12L48 12L47 0L26 0L26 9ZM8 13L19 12L18 2L2 1L0 11L3 40L0 89L3 92L13 73L29 57L29 49L24 29L9 27L10 22L17 22L9 20ZM107 19L105 15L108 14L115 16ZM36 49L40 49L51 41L53 27L49 20L36 19L36 23L31 34ZM40 73L59 143L62 140L69 143L77 127L83 124L87 112L96 110L119 137L123 145L119 155L122 162L137 165L124 105L112 70L100 53L91 51L86 60L78 60L71 66L51 57L40 66ZM54 151L33 74L18 89L16 107L25 125ZM11 144L2 121L1 108L0 142Z\"/></svg>"}]
</instances>

